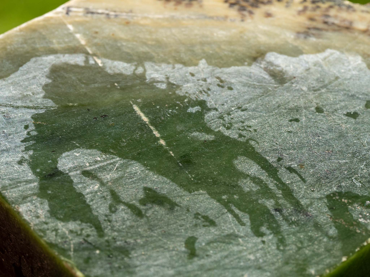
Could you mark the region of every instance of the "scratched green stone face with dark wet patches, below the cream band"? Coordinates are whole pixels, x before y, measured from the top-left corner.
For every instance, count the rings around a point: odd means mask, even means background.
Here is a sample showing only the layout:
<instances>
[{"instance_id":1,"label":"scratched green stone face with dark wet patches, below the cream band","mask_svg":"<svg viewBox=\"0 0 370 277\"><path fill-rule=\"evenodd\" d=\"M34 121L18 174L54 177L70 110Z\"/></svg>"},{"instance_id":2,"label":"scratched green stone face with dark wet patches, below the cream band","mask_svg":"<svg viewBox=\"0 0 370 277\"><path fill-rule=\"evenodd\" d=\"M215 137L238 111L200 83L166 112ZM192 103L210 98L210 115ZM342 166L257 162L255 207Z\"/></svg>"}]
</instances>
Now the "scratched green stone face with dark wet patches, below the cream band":
<instances>
[{"instance_id":1,"label":"scratched green stone face with dark wet patches, below the cream band","mask_svg":"<svg viewBox=\"0 0 370 277\"><path fill-rule=\"evenodd\" d=\"M87 276L320 274L370 236L369 81L332 50L33 58L0 81L1 191Z\"/></svg>"}]
</instances>

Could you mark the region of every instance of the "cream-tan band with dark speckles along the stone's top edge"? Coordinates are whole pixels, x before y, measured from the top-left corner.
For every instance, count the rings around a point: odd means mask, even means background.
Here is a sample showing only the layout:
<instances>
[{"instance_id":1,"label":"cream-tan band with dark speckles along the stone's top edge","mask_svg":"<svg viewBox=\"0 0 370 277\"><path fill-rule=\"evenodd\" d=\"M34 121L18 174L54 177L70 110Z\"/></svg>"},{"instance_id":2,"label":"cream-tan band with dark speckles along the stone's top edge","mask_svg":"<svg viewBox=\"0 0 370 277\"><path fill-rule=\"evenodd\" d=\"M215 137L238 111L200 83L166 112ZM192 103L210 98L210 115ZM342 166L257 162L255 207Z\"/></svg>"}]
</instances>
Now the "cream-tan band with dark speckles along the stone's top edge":
<instances>
[{"instance_id":1,"label":"cream-tan band with dark speckles along the stone's top edge","mask_svg":"<svg viewBox=\"0 0 370 277\"><path fill-rule=\"evenodd\" d=\"M185 65L205 58L211 65L232 66L250 64L271 51L297 56L330 48L355 52L370 63L367 6L348 1L236 2L69 1L1 35L0 77L33 55L61 52Z\"/></svg>"}]
</instances>

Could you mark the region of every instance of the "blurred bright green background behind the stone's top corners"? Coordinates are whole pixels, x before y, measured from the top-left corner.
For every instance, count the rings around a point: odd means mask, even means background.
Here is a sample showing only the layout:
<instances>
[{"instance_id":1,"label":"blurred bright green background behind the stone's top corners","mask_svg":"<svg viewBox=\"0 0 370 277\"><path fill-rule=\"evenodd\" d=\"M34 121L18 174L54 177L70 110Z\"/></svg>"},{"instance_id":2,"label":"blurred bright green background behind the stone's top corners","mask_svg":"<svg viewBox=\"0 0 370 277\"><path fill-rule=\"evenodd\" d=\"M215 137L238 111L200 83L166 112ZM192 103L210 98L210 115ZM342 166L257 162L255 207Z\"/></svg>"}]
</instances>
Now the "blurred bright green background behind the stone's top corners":
<instances>
[{"instance_id":1,"label":"blurred bright green background behind the stone's top corners","mask_svg":"<svg viewBox=\"0 0 370 277\"><path fill-rule=\"evenodd\" d=\"M104 1L104 0L102 0ZM370 0L353 0L366 4ZM0 34L54 10L66 0L0 0Z\"/></svg>"}]
</instances>

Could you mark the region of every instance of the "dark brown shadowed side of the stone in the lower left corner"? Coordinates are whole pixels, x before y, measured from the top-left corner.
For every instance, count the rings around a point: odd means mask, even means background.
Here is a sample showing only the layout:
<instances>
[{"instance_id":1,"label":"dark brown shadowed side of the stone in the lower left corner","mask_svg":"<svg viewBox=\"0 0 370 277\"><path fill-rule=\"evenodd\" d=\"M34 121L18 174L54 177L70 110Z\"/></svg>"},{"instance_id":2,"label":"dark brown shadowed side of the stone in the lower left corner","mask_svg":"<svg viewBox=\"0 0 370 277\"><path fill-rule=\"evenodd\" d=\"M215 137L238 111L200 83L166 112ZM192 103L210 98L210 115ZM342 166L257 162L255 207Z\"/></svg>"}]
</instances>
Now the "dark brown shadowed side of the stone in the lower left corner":
<instances>
[{"instance_id":1,"label":"dark brown shadowed side of the stone in the lower left corner","mask_svg":"<svg viewBox=\"0 0 370 277\"><path fill-rule=\"evenodd\" d=\"M0 277L76 277L0 196Z\"/></svg>"}]
</instances>

